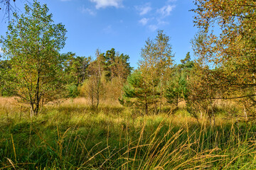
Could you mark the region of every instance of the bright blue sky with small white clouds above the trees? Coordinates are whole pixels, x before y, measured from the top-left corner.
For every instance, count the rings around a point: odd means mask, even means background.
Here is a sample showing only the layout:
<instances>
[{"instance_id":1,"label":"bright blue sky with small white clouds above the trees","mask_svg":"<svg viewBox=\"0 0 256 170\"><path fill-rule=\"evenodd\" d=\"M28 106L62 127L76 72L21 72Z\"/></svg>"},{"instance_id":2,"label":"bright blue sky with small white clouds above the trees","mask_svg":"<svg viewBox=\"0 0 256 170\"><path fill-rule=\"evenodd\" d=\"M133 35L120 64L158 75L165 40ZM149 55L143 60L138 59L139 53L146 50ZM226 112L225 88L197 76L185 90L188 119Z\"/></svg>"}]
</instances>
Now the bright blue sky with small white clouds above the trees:
<instances>
[{"instance_id":1,"label":"bright blue sky with small white clouds above the trees","mask_svg":"<svg viewBox=\"0 0 256 170\"><path fill-rule=\"evenodd\" d=\"M171 37L179 63L191 52L190 41L197 28L193 27L194 8L191 0L39 0L47 4L55 23L63 23L68 30L62 52L78 56L95 56L112 47L129 55L132 67L137 67L142 47L147 38L154 39L157 30ZM23 11L23 3L16 6ZM0 11L0 18L4 13ZM6 33L6 23L0 23L0 35ZM1 45L0 45L1 47ZM1 49L0 49L1 52Z\"/></svg>"}]
</instances>

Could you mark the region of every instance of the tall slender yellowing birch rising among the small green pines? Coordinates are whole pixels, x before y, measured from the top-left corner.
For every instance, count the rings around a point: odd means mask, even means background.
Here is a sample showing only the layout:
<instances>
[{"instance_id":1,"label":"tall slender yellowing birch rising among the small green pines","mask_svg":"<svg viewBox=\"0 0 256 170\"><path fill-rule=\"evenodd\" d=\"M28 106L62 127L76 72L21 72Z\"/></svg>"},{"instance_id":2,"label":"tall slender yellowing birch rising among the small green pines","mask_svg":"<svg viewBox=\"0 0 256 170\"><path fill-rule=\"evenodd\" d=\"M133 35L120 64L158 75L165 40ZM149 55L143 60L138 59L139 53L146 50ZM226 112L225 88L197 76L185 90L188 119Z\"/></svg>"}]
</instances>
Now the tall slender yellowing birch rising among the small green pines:
<instances>
[{"instance_id":1,"label":"tall slender yellowing birch rising among the small green pines","mask_svg":"<svg viewBox=\"0 0 256 170\"><path fill-rule=\"evenodd\" d=\"M152 89L153 95L159 94L154 105L160 102L160 110L166 81L173 65L174 55L169 41L169 36L165 35L163 30L159 30L154 40L146 40L146 45L142 48L142 59L139 60L139 70L142 72L145 86ZM156 81L159 81L158 86L155 86Z\"/></svg>"}]
</instances>

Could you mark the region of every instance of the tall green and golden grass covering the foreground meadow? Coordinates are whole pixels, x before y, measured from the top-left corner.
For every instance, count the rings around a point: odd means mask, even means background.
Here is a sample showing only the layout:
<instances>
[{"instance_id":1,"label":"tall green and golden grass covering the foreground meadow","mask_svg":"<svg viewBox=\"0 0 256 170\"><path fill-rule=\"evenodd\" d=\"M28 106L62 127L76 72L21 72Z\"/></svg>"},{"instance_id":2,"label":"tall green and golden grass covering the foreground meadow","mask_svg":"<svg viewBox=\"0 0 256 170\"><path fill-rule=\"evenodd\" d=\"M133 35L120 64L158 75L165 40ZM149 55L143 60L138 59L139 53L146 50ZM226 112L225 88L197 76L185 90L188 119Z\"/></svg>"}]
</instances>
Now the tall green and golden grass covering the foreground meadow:
<instances>
[{"instance_id":1,"label":"tall green and golden grass covering the foreground meadow","mask_svg":"<svg viewBox=\"0 0 256 170\"><path fill-rule=\"evenodd\" d=\"M0 109L0 169L255 169L256 125L186 111L49 106L31 120Z\"/></svg>"}]
</instances>

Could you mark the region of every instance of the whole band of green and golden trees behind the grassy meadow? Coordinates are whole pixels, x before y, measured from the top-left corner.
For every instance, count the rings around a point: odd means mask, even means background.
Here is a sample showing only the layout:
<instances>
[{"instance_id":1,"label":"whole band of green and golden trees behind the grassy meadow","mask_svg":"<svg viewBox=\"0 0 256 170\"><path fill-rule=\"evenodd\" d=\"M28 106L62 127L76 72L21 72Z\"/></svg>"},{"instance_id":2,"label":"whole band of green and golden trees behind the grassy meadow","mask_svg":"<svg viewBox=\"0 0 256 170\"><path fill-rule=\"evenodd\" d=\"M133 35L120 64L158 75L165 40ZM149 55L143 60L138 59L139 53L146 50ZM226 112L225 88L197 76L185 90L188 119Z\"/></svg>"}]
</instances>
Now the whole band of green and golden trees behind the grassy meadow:
<instances>
[{"instance_id":1,"label":"whole band of green and golden trees behind the grassy meadow","mask_svg":"<svg viewBox=\"0 0 256 170\"><path fill-rule=\"evenodd\" d=\"M142 114L161 113L166 106L215 121L217 100L233 100L244 107L247 120L255 117L255 1L195 1L195 26L190 52L174 62L170 37L159 30L142 47L138 68L129 55L114 48L95 52L95 58L60 54L65 27L54 24L46 5L34 1L26 13L9 23L1 37L1 94L18 96L37 115L44 103L56 98L86 96L92 106L106 98ZM214 28L220 28L219 32Z\"/></svg>"}]
</instances>

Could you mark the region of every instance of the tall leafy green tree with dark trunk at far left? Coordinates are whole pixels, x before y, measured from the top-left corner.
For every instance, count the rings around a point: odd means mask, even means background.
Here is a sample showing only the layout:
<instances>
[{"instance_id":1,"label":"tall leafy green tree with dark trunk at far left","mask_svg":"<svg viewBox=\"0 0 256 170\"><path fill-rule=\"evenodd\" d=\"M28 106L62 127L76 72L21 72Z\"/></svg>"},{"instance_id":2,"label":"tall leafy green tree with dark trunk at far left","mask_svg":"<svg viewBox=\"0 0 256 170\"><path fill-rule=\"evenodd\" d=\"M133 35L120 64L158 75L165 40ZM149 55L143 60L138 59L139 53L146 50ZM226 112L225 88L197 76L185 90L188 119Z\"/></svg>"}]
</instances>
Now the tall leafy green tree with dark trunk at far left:
<instances>
[{"instance_id":1,"label":"tall leafy green tree with dark trunk at far left","mask_svg":"<svg viewBox=\"0 0 256 170\"><path fill-rule=\"evenodd\" d=\"M63 62L60 55L65 45L66 30L53 23L46 4L34 1L25 6L26 12L9 23L6 38L1 36L4 55L11 69L4 72L4 84L16 89L15 96L31 107L31 116L37 115L40 103L52 101L63 88Z\"/></svg>"}]
</instances>

